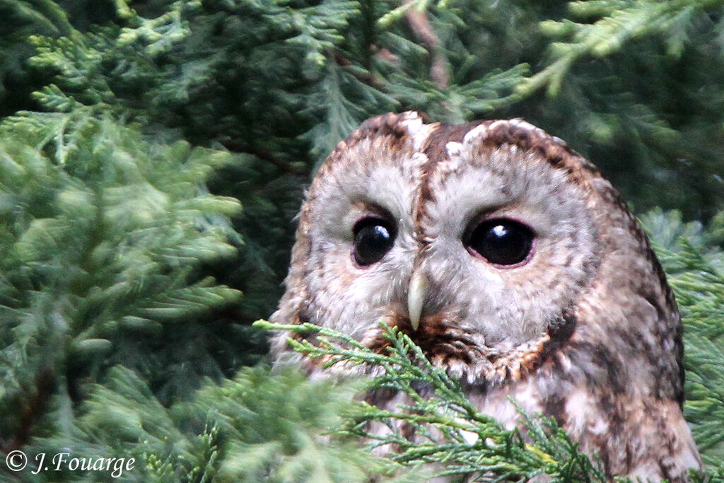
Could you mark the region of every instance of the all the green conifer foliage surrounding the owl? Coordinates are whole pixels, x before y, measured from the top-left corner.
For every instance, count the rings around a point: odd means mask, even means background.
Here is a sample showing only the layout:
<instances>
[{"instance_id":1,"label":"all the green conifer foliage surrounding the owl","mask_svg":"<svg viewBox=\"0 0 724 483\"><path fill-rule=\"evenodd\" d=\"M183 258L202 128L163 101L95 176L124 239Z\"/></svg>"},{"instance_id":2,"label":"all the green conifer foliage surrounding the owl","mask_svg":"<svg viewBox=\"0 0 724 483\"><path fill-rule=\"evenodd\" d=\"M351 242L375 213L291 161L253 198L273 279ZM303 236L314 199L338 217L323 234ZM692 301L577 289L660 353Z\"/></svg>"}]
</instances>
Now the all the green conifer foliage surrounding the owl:
<instances>
[{"instance_id":1,"label":"all the green conifer foliage surrounding the owl","mask_svg":"<svg viewBox=\"0 0 724 483\"><path fill-rule=\"evenodd\" d=\"M683 316L693 479L724 481L724 1L0 0L0 16L0 449L30 455L0 479L603 481L555 422L502 428L394 331L380 355L286 327L377 378L264 365L280 328L251 322L281 293L306 183L363 119L420 109L525 117L631 201ZM359 400L380 388L413 407ZM408 441L399 419L443 438ZM134 464L36 471L62 452Z\"/></svg>"}]
</instances>

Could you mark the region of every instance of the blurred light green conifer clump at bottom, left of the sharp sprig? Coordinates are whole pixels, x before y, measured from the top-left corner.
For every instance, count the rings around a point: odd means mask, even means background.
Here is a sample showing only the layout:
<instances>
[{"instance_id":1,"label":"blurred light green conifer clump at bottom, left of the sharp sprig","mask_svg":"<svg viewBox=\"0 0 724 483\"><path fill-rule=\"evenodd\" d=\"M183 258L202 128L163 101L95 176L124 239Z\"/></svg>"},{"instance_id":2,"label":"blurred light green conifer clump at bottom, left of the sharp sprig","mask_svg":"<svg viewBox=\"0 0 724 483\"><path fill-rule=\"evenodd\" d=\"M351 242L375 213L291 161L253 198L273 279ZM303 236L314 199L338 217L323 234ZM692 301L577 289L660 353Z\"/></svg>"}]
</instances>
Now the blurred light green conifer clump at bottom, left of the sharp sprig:
<instances>
[{"instance_id":1,"label":"blurred light green conifer clump at bottom, left of the sharp sprig","mask_svg":"<svg viewBox=\"0 0 724 483\"><path fill-rule=\"evenodd\" d=\"M334 429L350 411L355 385L309 382L298 371L245 368L207 381L193 402L164 407L130 369L94 385L67 432L38 438L28 453L135 458L125 482L415 482ZM33 469L35 471L35 469ZM23 476L20 474L19 476ZM1 477L1 476L0 476ZM98 471L41 471L34 481L109 479Z\"/></svg>"}]
</instances>

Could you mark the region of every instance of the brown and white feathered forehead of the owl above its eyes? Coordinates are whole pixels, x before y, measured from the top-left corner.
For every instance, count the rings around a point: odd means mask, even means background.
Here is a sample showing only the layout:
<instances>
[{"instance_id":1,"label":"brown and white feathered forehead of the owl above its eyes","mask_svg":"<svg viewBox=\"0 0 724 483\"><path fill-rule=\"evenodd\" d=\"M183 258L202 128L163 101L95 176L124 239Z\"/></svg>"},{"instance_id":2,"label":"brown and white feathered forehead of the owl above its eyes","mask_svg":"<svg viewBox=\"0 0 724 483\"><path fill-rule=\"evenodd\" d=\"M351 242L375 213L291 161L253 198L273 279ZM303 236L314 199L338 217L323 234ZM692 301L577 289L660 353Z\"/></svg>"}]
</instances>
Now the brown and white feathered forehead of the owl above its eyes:
<instances>
[{"instance_id":1,"label":"brown and white feathered forehead of the owl above its eyes","mask_svg":"<svg viewBox=\"0 0 724 483\"><path fill-rule=\"evenodd\" d=\"M567 198L562 191L590 192L592 177L599 177L592 164L520 119L426 124L406 112L369 119L342 141L317 175L309 201L322 198L317 204L327 215L332 208L335 222L352 216L348 206L367 203L367 211L387 210L397 222L419 228L442 217L440 211L473 212L518 201L555 211ZM346 220L339 225L349 226Z\"/></svg>"}]
</instances>

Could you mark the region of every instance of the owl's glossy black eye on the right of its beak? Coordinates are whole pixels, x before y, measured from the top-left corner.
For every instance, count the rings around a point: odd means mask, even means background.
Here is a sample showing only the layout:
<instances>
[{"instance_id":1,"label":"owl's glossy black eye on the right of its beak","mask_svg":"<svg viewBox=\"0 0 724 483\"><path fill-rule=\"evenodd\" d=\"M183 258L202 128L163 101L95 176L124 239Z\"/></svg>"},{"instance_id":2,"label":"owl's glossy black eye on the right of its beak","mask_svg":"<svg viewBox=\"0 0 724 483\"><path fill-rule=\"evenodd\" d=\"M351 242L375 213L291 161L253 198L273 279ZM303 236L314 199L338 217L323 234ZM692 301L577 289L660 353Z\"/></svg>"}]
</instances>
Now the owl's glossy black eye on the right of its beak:
<instances>
[{"instance_id":1,"label":"owl's glossy black eye on the right of its beak","mask_svg":"<svg viewBox=\"0 0 724 483\"><path fill-rule=\"evenodd\" d=\"M512 219L488 219L470 232L463 243L492 264L515 265L524 261L535 236L526 225Z\"/></svg>"}]
</instances>

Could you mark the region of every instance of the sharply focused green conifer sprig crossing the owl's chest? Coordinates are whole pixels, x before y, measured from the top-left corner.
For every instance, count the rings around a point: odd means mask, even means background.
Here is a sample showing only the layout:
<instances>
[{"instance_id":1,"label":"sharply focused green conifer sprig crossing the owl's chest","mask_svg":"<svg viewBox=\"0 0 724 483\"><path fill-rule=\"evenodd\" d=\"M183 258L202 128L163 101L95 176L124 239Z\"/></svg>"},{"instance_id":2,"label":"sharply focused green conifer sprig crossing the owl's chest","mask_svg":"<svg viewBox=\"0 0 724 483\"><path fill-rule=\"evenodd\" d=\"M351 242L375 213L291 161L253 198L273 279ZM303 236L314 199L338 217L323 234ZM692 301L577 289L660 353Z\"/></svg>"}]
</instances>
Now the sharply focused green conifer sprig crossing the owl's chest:
<instances>
[{"instance_id":1,"label":"sharply focused green conifer sprig crossing the owl's chest","mask_svg":"<svg viewBox=\"0 0 724 483\"><path fill-rule=\"evenodd\" d=\"M526 427L523 435L480 413L460 384L433 366L421 348L396 327L380 324L390 348L387 353L376 353L348 335L313 324L259 321L256 325L314 334L314 343L293 338L288 343L306 356L321 358L327 369L366 366L367 372L376 374L367 383L367 391L406 395L407 402L396 411L361 402L342 429L343 434L369 441L371 448L396 448L389 457L397 463L439 463L440 476L473 476L476 481L526 481L539 474L547 474L553 481L605 481L602 469L578 453L576 444L552 419L531 417L521 410ZM388 431L371 432L372 424ZM416 436L405 436L403 426L405 433Z\"/></svg>"}]
</instances>

